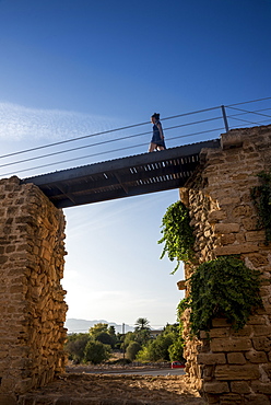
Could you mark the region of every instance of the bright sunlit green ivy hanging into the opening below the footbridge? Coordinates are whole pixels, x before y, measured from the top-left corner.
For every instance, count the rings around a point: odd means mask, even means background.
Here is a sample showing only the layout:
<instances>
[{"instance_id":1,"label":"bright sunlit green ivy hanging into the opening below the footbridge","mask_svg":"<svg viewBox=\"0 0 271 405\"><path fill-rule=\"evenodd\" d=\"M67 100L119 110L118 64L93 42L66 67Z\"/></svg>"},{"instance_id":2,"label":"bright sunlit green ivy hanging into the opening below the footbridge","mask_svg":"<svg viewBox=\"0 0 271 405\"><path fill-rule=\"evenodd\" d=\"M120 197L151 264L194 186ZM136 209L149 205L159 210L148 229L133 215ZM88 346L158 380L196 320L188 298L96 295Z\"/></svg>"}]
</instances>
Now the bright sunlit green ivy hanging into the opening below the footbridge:
<instances>
[{"instance_id":1,"label":"bright sunlit green ivy hanging into the opening below the footbridge","mask_svg":"<svg viewBox=\"0 0 271 405\"><path fill-rule=\"evenodd\" d=\"M170 205L163 217L162 228L163 238L158 243L165 242L165 245L160 258L167 253L170 262L177 259L177 265L172 271L174 274L180 262L190 262L195 254L192 250L195 236L188 208L181 201Z\"/></svg>"}]
</instances>

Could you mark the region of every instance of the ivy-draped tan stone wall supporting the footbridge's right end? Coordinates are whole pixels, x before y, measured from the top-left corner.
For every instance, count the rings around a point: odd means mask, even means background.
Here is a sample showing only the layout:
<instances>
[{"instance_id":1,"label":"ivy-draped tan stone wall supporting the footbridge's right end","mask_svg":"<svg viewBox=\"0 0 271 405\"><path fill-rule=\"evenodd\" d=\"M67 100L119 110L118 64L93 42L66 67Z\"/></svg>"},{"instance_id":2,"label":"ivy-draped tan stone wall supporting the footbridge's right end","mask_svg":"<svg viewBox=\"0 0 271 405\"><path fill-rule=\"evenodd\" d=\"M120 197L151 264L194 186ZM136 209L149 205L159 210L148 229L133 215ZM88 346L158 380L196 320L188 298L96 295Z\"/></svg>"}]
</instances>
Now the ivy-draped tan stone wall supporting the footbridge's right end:
<instances>
[{"instance_id":1,"label":"ivy-draped tan stone wall supporting the footbridge's right end","mask_svg":"<svg viewBox=\"0 0 271 405\"><path fill-rule=\"evenodd\" d=\"M250 189L257 174L271 170L271 126L231 130L222 148L202 150L202 166L180 189L197 238L199 263L240 254L246 265L262 273L264 310L234 333L224 319L213 320L211 340L187 340L186 371L210 404L271 403L271 246L257 229ZM193 271L186 266L186 278ZM186 293L189 293L187 290ZM184 314L185 336L189 313Z\"/></svg>"}]
</instances>

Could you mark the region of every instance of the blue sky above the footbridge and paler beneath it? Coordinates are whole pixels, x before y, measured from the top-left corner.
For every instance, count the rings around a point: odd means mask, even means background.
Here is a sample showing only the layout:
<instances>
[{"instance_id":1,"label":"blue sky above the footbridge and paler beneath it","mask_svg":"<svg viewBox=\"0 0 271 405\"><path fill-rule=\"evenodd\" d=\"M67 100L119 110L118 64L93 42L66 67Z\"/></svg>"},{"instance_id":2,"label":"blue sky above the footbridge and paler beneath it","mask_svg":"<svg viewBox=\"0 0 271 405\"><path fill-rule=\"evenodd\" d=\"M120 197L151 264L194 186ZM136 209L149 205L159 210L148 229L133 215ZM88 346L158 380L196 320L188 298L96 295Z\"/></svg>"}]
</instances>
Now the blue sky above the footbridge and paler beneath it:
<instances>
[{"instance_id":1,"label":"blue sky above the footbridge and paler beneath it","mask_svg":"<svg viewBox=\"0 0 271 405\"><path fill-rule=\"evenodd\" d=\"M163 118L269 97L270 19L270 0L0 0L1 155L146 123L154 112ZM30 165L0 166L0 174L14 169L24 177L92 162L49 160L48 167L22 173ZM158 259L156 241L177 199L172 190L64 210L69 317L175 322L182 271L169 275L173 264Z\"/></svg>"}]
</instances>

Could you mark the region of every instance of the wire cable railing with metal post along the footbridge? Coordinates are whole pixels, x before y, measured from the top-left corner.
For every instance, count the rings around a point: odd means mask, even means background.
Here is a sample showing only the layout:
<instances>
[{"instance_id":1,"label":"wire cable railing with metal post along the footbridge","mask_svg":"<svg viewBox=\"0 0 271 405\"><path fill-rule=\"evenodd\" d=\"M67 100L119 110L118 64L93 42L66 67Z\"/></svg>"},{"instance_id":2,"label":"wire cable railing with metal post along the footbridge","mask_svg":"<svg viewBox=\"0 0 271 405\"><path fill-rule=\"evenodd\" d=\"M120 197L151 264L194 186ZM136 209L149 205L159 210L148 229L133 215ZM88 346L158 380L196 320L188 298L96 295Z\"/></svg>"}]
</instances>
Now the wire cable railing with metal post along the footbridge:
<instances>
[{"instance_id":1,"label":"wire cable railing with metal post along the footbridge","mask_svg":"<svg viewBox=\"0 0 271 405\"><path fill-rule=\"evenodd\" d=\"M258 107L257 109L251 107L249 109L241 108L240 106L245 104L257 105ZM216 139L222 131L247 127L248 124L249 126L266 125L271 123L271 113L268 114L269 112L271 112L271 97L266 97L163 117L161 121L166 146L167 148L174 148ZM197 119L191 120L192 116L197 116ZM172 125L164 126L165 121L170 121ZM136 131L134 134L136 128L146 126L148 130ZM27 173L33 175L33 172L34 175L43 174L46 167L47 172L55 171L56 166L59 170L64 170L70 169L72 162L74 165L80 163L92 164L107 158L110 160L123 158L130 155L131 151L132 154L144 153L148 151L151 135L152 124L145 121L5 153L0 155L0 177L21 173L27 176ZM74 142L81 143L71 148L70 144ZM48 152L42 153L45 149ZM83 152L86 149L91 149L92 153L84 154ZM23 154L25 158L21 159ZM67 159L60 160L59 155L63 154L67 155ZM37 161L39 164L36 165Z\"/></svg>"}]
</instances>

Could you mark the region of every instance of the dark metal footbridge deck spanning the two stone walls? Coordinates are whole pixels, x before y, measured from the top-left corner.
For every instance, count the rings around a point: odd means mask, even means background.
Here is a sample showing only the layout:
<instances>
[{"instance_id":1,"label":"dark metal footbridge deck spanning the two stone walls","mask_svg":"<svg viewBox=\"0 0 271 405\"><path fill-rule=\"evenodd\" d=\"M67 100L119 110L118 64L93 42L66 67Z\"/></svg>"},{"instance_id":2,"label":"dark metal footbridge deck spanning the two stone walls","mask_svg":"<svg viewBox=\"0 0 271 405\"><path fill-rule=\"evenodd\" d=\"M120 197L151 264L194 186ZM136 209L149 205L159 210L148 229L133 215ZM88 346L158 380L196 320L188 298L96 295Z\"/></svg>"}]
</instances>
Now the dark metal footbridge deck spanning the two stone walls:
<instances>
[{"instance_id":1,"label":"dark metal footbridge deck spanning the two stone walls","mask_svg":"<svg viewBox=\"0 0 271 405\"><path fill-rule=\"evenodd\" d=\"M195 172L202 148L214 139L22 180L36 184L58 208L178 188Z\"/></svg>"}]
</instances>

